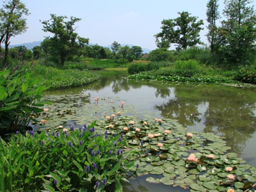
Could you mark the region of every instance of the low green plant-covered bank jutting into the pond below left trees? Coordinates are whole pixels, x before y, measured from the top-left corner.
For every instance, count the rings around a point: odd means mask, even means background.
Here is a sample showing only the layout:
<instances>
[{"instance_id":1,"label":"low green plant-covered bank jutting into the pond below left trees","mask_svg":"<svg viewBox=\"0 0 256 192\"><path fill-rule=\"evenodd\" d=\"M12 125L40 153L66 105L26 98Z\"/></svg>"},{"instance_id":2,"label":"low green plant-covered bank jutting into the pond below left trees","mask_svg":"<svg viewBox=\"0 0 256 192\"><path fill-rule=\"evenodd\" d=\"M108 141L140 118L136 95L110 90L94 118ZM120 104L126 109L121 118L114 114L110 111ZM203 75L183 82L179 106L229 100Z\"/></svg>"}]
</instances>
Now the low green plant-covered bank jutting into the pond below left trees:
<instances>
[{"instance_id":1,"label":"low green plant-covered bank jutting into the pond below left trees","mask_svg":"<svg viewBox=\"0 0 256 192\"><path fill-rule=\"evenodd\" d=\"M26 70L33 74L33 79L44 79L45 85L51 86L51 88L81 86L99 79L99 75L77 68L62 69L35 65L35 67L27 66Z\"/></svg>"}]
</instances>

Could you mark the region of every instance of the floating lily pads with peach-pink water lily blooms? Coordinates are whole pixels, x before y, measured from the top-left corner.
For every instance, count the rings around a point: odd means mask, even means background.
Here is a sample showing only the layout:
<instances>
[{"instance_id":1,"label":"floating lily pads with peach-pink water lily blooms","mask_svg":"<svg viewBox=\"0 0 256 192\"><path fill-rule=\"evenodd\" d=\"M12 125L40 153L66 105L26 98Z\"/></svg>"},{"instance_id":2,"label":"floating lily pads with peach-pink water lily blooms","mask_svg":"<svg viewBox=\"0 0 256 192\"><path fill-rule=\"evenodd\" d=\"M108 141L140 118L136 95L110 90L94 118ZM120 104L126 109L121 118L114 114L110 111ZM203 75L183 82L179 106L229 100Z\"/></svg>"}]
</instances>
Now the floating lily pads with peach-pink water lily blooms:
<instances>
[{"instance_id":1,"label":"floating lily pads with peach-pink water lily blooms","mask_svg":"<svg viewBox=\"0 0 256 192\"><path fill-rule=\"evenodd\" d=\"M113 104L110 99L93 102L81 95L65 95L55 101L41 116L49 124L40 126L52 128L65 125L68 120L76 124L97 120L97 131L123 132L129 143L126 150L136 151L131 159L140 166L136 173L148 175L148 182L191 191L255 190L256 169L244 164L246 161L237 154L228 152L230 147L225 138L212 133L188 132L177 120L159 120L147 115L147 120L141 119L138 113L134 115L132 106L121 105L120 100Z\"/></svg>"}]
</instances>

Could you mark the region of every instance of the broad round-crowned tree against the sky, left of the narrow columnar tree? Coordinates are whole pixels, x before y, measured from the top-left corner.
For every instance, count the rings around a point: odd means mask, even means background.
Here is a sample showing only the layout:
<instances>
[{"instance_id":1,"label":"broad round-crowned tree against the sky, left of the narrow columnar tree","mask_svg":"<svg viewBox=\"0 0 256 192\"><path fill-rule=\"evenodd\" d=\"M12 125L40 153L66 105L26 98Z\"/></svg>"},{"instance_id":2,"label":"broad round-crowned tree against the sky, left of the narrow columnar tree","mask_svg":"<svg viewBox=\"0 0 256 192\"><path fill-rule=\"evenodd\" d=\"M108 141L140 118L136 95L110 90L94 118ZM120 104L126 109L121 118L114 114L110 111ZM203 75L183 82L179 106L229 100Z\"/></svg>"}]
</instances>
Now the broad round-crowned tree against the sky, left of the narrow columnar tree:
<instances>
[{"instance_id":1,"label":"broad round-crowned tree against the sky, left of the narrow columnar tree","mask_svg":"<svg viewBox=\"0 0 256 192\"><path fill-rule=\"evenodd\" d=\"M177 49L187 49L200 42L199 32L204 29L203 20L190 16L188 12L179 12L180 17L162 21L162 31L157 33L156 44L159 48L169 48L171 44L178 44Z\"/></svg>"}]
</instances>

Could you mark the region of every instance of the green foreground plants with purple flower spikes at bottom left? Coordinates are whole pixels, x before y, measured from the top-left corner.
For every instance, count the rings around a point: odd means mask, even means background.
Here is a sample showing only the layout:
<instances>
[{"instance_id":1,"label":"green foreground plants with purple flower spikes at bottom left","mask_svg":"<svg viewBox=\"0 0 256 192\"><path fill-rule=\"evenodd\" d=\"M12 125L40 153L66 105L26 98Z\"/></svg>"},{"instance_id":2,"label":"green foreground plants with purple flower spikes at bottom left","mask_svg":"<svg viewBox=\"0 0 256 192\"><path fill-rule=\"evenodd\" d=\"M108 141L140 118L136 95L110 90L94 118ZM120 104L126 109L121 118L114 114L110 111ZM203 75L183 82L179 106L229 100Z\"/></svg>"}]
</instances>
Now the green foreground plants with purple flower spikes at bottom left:
<instances>
[{"instance_id":1,"label":"green foreground plants with purple flower spikes at bottom left","mask_svg":"<svg viewBox=\"0 0 256 192\"><path fill-rule=\"evenodd\" d=\"M119 134L80 130L29 131L0 140L1 191L122 191L121 180L134 168Z\"/></svg>"}]
</instances>

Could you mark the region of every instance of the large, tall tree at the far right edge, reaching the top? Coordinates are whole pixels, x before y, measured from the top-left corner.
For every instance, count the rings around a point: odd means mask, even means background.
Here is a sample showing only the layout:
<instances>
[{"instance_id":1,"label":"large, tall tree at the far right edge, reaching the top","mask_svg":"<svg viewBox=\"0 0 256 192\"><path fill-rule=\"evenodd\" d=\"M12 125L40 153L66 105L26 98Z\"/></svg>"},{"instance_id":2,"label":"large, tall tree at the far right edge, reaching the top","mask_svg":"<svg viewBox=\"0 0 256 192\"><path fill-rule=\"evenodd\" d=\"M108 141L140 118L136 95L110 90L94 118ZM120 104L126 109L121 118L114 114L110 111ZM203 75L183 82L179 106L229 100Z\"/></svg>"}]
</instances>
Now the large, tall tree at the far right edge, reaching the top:
<instances>
[{"instance_id":1,"label":"large, tall tree at the far right edge, reaching the top","mask_svg":"<svg viewBox=\"0 0 256 192\"><path fill-rule=\"evenodd\" d=\"M236 65L247 63L255 49L256 15L250 0L225 0L219 36L224 61Z\"/></svg>"}]
</instances>

